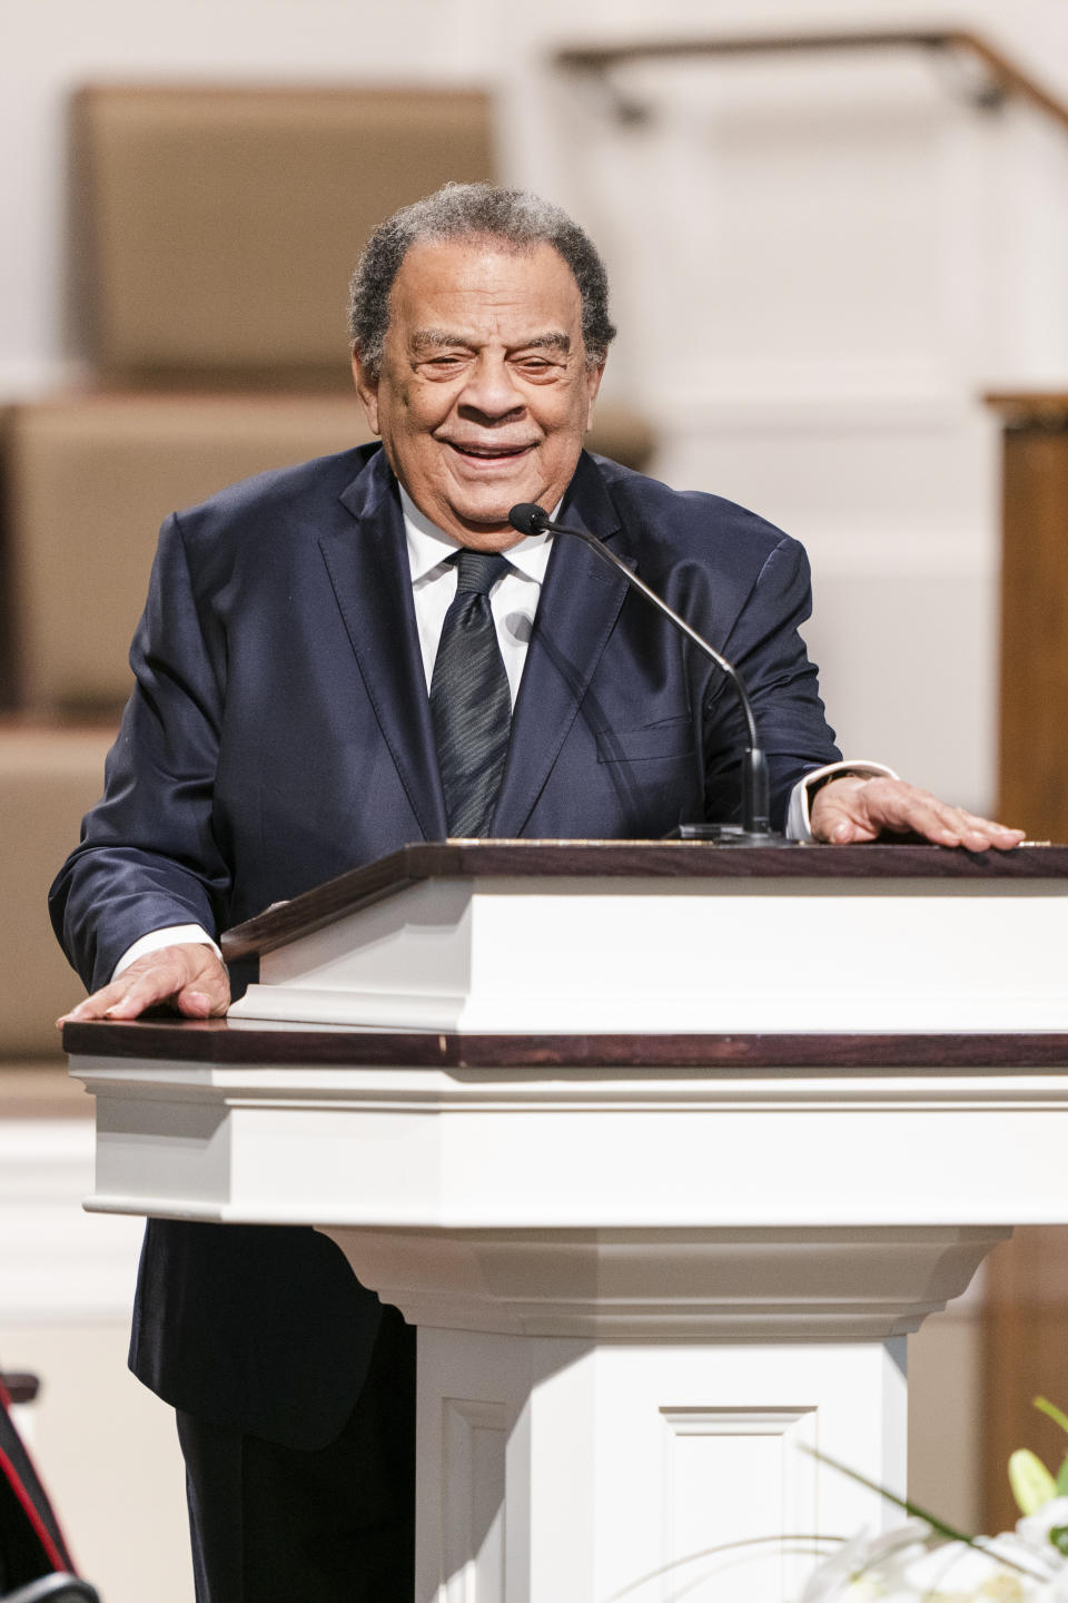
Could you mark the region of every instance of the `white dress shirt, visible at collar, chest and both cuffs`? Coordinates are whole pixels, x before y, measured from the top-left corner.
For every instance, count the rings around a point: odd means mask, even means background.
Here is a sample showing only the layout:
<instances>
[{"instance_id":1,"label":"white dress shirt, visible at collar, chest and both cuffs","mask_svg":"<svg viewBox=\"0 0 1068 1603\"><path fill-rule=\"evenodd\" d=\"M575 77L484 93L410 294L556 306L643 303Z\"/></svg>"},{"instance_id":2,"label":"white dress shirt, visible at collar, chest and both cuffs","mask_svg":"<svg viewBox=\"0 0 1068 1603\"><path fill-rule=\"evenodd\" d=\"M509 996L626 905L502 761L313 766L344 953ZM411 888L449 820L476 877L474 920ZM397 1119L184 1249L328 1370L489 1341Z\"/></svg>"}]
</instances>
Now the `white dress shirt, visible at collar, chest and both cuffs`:
<instances>
[{"instance_id":1,"label":"white dress shirt, visible at collar, chest and both cuffs","mask_svg":"<svg viewBox=\"0 0 1068 1603\"><path fill-rule=\"evenodd\" d=\"M420 511L404 487L400 489L400 507L404 510L404 532L408 545L408 566L412 569L415 622L420 632L420 652L423 656L423 673L426 675L426 689L429 694L442 625L445 624L450 601L456 595L456 566L450 558L463 550L463 545L450 534L444 534L436 527ZM554 518L559 510L559 507L552 510ZM512 707L519 694L519 681L527 660L527 644L533 630L551 550L552 535L548 532L528 534L519 545L511 545L504 553L511 564L509 571L498 579L490 592L490 611L493 612L496 640L504 659ZM804 779L797 781L789 795L789 806L786 810L786 835L789 840L812 840L809 819L810 789L836 773L887 774L890 779L897 777L893 769L885 768L882 763L868 761L828 763L825 768L813 769ZM168 925L165 930L152 930L135 941L115 963L112 979L117 979L123 968L128 968L138 957L144 957L146 952L155 952L163 946L176 946L183 941L210 946L219 957L223 955L216 943L199 923Z\"/></svg>"}]
</instances>

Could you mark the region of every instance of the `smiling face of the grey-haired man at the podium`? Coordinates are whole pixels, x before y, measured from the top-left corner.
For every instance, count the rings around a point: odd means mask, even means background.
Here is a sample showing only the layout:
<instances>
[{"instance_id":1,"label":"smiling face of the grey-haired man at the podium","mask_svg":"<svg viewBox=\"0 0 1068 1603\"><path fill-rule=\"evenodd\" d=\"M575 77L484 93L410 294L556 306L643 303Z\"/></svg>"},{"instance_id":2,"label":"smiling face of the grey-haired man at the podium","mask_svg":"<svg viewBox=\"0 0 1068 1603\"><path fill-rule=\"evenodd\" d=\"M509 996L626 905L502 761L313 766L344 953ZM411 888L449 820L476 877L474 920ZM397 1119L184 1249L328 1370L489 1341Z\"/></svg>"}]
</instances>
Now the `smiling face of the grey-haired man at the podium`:
<instances>
[{"instance_id":1,"label":"smiling face of the grey-haired man at the podium","mask_svg":"<svg viewBox=\"0 0 1068 1603\"><path fill-rule=\"evenodd\" d=\"M602 364L604 367L604 364ZM586 365L581 298L551 245L413 245L389 297L381 373L355 386L416 507L463 545L522 539L516 502L551 511L570 484L602 367Z\"/></svg>"}]
</instances>

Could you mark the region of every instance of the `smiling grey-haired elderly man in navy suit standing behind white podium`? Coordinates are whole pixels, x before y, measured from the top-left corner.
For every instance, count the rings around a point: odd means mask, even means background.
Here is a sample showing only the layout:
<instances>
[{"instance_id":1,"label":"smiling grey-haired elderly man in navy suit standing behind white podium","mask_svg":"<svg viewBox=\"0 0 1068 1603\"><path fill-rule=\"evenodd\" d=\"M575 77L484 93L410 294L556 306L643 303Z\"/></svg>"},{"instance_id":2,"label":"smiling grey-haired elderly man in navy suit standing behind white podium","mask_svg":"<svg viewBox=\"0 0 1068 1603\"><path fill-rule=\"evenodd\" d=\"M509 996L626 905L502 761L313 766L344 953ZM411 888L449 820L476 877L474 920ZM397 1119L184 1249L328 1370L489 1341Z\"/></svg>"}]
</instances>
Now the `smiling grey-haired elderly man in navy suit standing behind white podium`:
<instances>
[{"instance_id":1,"label":"smiling grey-haired elderly man in navy suit standing behind white podium","mask_svg":"<svg viewBox=\"0 0 1068 1603\"><path fill-rule=\"evenodd\" d=\"M717 670L583 545L519 535L517 502L610 540L737 664L794 832L1020 840L839 766L796 542L583 452L613 332L594 247L535 196L448 186L376 231L352 364L381 447L163 526L107 792L53 890L96 987L70 1018L223 1013L221 928L410 840L735 810ZM151 1221L131 1363L179 1411L200 1603L410 1603L412 1334L331 1242Z\"/></svg>"}]
</instances>

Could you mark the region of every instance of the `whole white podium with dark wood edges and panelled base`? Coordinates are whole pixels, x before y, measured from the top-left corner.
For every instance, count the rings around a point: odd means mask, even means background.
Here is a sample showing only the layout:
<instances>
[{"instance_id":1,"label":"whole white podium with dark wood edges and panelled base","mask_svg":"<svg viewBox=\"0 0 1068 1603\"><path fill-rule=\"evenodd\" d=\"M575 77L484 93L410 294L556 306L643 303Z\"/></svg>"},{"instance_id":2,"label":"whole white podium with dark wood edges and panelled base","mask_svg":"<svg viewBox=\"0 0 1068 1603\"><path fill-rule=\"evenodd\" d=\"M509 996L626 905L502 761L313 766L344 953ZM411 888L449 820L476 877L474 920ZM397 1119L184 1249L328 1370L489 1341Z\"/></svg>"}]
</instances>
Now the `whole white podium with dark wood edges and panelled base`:
<instances>
[{"instance_id":1,"label":"whole white podium with dark wood edges and panelled base","mask_svg":"<svg viewBox=\"0 0 1068 1603\"><path fill-rule=\"evenodd\" d=\"M1065 898L1065 848L412 846L234 931L231 1020L67 1026L90 1207L317 1225L418 1324L418 1603L786 1603L897 1521L801 1449L903 1489L906 1332L1068 1220Z\"/></svg>"}]
</instances>

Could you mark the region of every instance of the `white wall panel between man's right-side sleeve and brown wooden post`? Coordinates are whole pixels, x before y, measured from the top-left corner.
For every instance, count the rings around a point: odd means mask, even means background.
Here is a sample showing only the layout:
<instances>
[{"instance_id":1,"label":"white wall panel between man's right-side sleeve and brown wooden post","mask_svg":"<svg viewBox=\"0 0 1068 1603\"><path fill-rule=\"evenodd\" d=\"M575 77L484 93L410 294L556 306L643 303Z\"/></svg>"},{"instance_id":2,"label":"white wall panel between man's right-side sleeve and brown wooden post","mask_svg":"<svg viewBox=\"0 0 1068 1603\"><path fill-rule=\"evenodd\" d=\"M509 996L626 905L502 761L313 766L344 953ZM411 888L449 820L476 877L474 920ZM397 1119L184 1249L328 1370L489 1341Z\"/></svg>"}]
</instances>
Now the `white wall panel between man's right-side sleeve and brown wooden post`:
<instances>
[{"instance_id":1,"label":"white wall panel between man's right-side sleeve and brown wooden post","mask_svg":"<svg viewBox=\"0 0 1068 1603\"><path fill-rule=\"evenodd\" d=\"M998 436L980 406L857 399L673 409L658 471L804 542L831 723L978 811L994 803Z\"/></svg>"}]
</instances>

